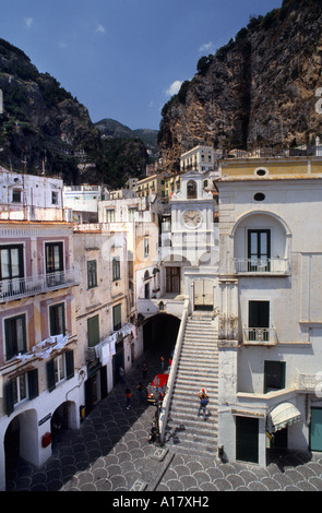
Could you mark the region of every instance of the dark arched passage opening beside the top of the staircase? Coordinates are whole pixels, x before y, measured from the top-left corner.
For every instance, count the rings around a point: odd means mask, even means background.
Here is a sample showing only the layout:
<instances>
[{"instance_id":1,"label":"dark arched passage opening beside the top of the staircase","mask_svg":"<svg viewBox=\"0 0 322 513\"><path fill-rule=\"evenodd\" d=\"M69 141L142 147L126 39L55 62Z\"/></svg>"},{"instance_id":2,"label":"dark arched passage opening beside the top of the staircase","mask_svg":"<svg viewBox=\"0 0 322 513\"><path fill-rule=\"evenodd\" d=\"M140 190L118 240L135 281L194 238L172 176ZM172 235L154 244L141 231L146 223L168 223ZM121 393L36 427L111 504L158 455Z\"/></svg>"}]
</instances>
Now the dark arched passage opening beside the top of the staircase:
<instances>
[{"instance_id":1,"label":"dark arched passage opening beside the top of the staircase","mask_svg":"<svg viewBox=\"0 0 322 513\"><path fill-rule=\"evenodd\" d=\"M143 325L144 351L171 353L175 348L180 319L168 313L158 313Z\"/></svg>"}]
</instances>

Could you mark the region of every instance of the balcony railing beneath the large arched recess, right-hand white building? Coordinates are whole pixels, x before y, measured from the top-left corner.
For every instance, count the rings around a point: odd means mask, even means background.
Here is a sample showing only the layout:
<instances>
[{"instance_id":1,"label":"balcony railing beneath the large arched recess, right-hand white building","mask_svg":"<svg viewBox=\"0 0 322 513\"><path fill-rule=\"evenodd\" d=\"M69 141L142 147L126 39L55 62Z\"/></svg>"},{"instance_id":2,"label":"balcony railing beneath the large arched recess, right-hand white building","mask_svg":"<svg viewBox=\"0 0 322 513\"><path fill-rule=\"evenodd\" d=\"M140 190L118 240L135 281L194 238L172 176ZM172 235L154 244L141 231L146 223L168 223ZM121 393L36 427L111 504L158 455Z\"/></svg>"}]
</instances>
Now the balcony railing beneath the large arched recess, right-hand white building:
<instances>
[{"instance_id":1,"label":"balcony railing beneath the large arched recess, right-hand white building","mask_svg":"<svg viewBox=\"0 0 322 513\"><path fill-rule=\"evenodd\" d=\"M288 259L235 259L236 274L278 274L289 273Z\"/></svg>"}]
</instances>

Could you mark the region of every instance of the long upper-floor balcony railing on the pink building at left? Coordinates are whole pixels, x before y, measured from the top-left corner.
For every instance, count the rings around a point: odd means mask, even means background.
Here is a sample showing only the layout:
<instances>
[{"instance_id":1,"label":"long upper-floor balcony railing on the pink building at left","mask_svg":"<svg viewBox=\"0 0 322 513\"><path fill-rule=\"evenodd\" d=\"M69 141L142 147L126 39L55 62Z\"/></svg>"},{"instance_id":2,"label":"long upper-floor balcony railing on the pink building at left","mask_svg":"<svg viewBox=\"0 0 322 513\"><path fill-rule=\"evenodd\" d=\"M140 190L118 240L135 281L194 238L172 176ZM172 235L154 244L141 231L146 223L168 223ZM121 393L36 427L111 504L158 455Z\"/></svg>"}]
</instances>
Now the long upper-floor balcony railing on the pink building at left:
<instances>
[{"instance_id":1,"label":"long upper-floor balcony railing on the pink building at left","mask_svg":"<svg viewBox=\"0 0 322 513\"><path fill-rule=\"evenodd\" d=\"M35 294L70 287L75 284L76 277L73 270L23 278L3 279L0 282L0 302L13 301L27 296L34 296Z\"/></svg>"}]
</instances>

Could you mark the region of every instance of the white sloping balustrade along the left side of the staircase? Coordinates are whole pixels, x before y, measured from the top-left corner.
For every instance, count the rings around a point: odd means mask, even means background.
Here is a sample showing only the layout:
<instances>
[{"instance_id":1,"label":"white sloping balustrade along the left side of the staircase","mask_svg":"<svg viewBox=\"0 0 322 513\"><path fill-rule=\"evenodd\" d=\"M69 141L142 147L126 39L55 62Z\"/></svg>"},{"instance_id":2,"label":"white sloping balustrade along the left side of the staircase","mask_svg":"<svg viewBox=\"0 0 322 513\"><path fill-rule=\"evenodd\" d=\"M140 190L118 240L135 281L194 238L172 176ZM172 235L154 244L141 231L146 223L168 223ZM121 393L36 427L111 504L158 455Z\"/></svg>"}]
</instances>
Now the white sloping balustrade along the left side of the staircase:
<instances>
[{"instance_id":1,"label":"white sloping balustrade along the left side of the staircase","mask_svg":"<svg viewBox=\"0 0 322 513\"><path fill-rule=\"evenodd\" d=\"M182 342L183 342L183 337L184 337L188 312L189 312L189 299L186 299L184 305L183 305L181 323L180 323L180 327L179 327L179 332L178 332L178 336L177 336L177 341L176 341L176 348L175 348L175 353L174 353L174 358L172 358L172 363L171 363L171 368L170 368L169 379L168 379L168 383L167 383L167 393L165 395L165 398L164 398L163 405L162 405L162 409L160 409L159 432L160 432L160 442L162 443L164 443L164 440L165 440L166 427L167 427L167 422L168 422L171 397L172 397L175 381L176 381L176 377L177 377L177 370L178 370L178 365L179 365L179 359L180 359L180 354L181 354L181 348L182 348Z\"/></svg>"}]
</instances>

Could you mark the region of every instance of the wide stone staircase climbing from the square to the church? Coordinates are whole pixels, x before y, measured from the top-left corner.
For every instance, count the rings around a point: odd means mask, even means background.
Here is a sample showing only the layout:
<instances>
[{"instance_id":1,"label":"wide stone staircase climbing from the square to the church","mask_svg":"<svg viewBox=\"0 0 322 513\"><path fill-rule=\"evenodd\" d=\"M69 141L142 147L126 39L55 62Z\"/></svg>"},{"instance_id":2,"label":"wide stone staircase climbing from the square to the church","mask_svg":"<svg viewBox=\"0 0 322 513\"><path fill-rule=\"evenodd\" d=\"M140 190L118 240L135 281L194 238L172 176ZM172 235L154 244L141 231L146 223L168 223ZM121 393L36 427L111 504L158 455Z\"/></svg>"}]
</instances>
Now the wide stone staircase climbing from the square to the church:
<instances>
[{"instance_id":1,"label":"wide stone staircase climbing from the square to the church","mask_svg":"<svg viewBox=\"0 0 322 513\"><path fill-rule=\"evenodd\" d=\"M217 454L218 347L217 321L188 318L170 402L165 443L177 452ZM201 389L207 391L207 417L198 417Z\"/></svg>"}]
</instances>

